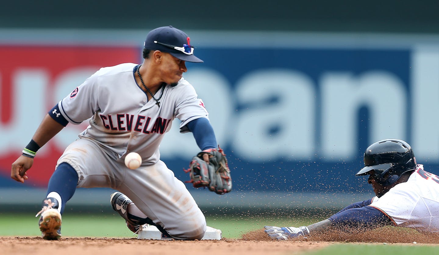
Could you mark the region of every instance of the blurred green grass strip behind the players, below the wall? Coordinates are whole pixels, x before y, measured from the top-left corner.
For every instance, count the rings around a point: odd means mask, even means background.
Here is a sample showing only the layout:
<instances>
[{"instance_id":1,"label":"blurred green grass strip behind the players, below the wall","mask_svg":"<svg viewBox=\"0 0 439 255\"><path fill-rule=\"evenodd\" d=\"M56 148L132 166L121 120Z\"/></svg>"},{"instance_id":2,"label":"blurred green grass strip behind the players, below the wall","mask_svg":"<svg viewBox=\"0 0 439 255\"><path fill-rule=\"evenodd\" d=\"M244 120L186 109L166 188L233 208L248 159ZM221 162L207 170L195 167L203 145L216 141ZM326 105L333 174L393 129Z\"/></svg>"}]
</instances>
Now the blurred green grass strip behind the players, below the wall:
<instances>
[{"instance_id":1,"label":"blurred green grass strip behind the players, below the wall","mask_svg":"<svg viewBox=\"0 0 439 255\"><path fill-rule=\"evenodd\" d=\"M125 220L119 214L83 213L64 214L61 233L68 237L106 237L137 238L126 227ZM312 218L261 217L258 215L241 216L207 216L207 225L222 231L223 238L237 239L249 231L262 230L264 225L303 226L313 223ZM39 237L38 218L32 213L1 213L0 236Z\"/></svg>"}]
</instances>

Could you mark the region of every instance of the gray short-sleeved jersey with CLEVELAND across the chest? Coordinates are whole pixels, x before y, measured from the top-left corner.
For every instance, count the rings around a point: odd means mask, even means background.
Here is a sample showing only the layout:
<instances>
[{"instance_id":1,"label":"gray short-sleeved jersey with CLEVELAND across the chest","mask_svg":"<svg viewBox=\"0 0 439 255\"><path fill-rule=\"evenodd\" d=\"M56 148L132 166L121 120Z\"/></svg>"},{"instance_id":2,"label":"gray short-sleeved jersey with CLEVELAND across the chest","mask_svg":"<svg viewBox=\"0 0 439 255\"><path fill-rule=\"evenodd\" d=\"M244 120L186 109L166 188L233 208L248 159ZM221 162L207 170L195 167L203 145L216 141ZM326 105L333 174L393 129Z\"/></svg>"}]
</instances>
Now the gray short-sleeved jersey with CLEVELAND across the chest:
<instances>
[{"instance_id":1,"label":"gray short-sleeved jersey with CLEVELAND across the chest","mask_svg":"<svg viewBox=\"0 0 439 255\"><path fill-rule=\"evenodd\" d=\"M160 158L159 144L173 119L181 120L180 132L184 133L188 131L188 122L208 118L208 112L184 78L175 87L165 87L160 107L154 100L148 101L134 79L135 66L124 63L101 68L58 106L72 124L78 125L93 116L90 126L79 137L96 140L119 158L135 151L144 164L155 164ZM159 93L160 89L155 98Z\"/></svg>"}]
</instances>

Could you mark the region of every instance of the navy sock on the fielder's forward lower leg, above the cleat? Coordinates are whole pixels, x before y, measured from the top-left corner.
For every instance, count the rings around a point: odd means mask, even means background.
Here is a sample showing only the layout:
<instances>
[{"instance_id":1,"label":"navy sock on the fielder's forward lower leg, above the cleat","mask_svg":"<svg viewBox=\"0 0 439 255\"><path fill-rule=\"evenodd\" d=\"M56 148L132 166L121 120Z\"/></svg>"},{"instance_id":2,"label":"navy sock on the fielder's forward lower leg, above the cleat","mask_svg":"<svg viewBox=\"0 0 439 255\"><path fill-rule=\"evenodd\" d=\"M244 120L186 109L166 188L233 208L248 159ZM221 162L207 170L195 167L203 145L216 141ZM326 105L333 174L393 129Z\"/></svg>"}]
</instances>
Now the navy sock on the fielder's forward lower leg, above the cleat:
<instances>
[{"instance_id":1,"label":"navy sock on the fielder's forward lower leg, above the cleat","mask_svg":"<svg viewBox=\"0 0 439 255\"><path fill-rule=\"evenodd\" d=\"M75 194L77 184L78 174L68 163L59 164L50 177L46 196L50 192L57 192L61 196L61 214L64 212L67 201Z\"/></svg>"}]
</instances>

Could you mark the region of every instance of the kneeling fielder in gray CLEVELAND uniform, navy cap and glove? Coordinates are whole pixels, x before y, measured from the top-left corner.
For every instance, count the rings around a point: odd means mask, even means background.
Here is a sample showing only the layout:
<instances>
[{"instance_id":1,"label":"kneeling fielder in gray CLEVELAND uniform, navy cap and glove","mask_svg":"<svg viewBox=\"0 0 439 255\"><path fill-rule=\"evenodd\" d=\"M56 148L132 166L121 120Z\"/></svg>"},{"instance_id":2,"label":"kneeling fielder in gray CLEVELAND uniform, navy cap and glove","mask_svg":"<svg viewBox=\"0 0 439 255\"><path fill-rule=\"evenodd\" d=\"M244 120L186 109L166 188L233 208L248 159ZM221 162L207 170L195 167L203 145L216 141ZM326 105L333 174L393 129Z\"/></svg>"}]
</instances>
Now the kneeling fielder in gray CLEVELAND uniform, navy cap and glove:
<instances>
[{"instance_id":1,"label":"kneeling fielder in gray CLEVELAND uniform, navy cap and glove","mask_svg":"<svg viewBox=\"0 0 439 255\"><path fill-rule=\"evenodd\" d=\"M227 160L219 147L208 112L194 87L182 77L185 62L203 62L194 56L190 38L172 26L150 31L141 64L103 67L76 87L44 117L22 155L12 164L11 177L28 178L36 152L68 123L91 118L58 159L43 199L39 225L47 240L61 238L61 215L77 187L106 187L112 208L133 232L139 225L155 225L164 235L179 240L201 239L206 221L183 182L160 160L159 144L175 118L180 133L192 132L202 150L192 170L223 171L221 182L201 182L191 173L194 186L209 186L223 194L231 189ZM129 169L126 154L137 152L142 164ZM222 168L220 169L219 163ZM211 177L214 179L214 177Z\"/></svg>"}]
</instances>

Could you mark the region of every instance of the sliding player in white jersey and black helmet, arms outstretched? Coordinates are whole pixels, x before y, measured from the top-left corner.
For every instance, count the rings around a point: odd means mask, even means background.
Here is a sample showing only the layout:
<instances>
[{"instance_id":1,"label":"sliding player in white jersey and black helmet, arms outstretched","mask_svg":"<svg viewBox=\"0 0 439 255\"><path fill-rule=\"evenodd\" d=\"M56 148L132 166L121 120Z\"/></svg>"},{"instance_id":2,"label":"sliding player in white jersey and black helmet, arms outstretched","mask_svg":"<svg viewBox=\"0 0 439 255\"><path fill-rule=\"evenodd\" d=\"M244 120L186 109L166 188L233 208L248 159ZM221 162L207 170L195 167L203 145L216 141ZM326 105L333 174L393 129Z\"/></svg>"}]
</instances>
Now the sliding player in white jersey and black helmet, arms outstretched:
<instances>
[{"instance_id":1,"label":"sliding player in white jersey and black helmet, arms outstretched","mask_svg":"<svg viewBox=\"0 0 439 255\"><path fill-rule=\"evenodd\" d=\"M364 153L364 165L356 175L369 175L374 198L309 226L265 226L266 234L287 240L326 231L358 233L385 225L439 232L439 177L416 164L408 143L397 139L373 143Z\"/></svg>"}]
</instances>

